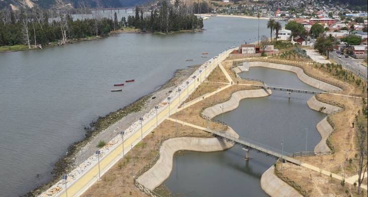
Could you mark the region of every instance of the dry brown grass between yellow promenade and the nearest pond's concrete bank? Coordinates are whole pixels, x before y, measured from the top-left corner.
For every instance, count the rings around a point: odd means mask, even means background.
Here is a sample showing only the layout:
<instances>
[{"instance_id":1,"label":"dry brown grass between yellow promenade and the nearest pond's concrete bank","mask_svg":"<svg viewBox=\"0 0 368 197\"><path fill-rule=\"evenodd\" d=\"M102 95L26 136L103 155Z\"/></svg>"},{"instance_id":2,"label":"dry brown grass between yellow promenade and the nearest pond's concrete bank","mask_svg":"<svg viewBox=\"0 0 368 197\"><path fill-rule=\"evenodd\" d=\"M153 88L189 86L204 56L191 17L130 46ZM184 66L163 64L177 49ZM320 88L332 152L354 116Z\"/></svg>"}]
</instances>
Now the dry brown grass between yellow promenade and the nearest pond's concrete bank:
<instances>
[{"instance_id":1,"label":"dry brown grass between yellow promenade and the nearest pond's concrete bank","mask_svg":"<svg viewBox=\"0 0 368 197\"><path fill-rule=\"evenodd\" d=\"M181 124L177 124L176 127L176 123L165 120L104 174L101 181L95 183L82 196L147 196L134 185L132 172L133 174L137 173L150 162L157 154L158 144L162 136L174 137L176 128L178 135L194 133L203 134L203 137L211 137L210 134L202 130Z\"/></svg>"}]
</instances>

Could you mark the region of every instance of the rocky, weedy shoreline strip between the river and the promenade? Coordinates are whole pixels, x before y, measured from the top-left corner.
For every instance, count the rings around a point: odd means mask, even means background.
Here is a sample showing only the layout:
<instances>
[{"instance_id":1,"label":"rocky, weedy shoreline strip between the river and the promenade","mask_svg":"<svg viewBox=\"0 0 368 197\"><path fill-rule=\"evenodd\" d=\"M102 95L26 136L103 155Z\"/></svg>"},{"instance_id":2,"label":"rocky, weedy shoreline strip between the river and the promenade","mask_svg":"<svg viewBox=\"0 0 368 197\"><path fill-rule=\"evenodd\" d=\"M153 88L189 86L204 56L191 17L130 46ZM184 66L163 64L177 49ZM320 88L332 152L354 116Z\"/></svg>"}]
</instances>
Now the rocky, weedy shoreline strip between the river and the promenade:
<instances>
[{"instance_id":1,"label":"rocky, weedy shoreline strip between the river and the promenade","mask_svg":"<svg viewBox=\"0 0 368 197\"><path fill-rule=\"evenodd\" d=\"M199 65L193 65L188 66L188 68L185 69L176 70L173 77L165 82L156 91L140 97L138 100L128 106L125 106L124 108L120 108L115 112L111 112L104 117L100 116L97 120L92 121L88 127L84 127L85 138L81 141L71 144L68 147L65 156L61 157L55 163L55 167L51 171L51 180L46 184L37 186L37 188L27 192L26 194L22 195L22 197L38 196L50 186L55 184L63 174L71 171L73 168L80 165L80 163L88 158L91 154L93 154L95 150L98 149L96 145L100 140L109 142L116 135L118 135L118 132L115 130L114 132L107 132L109 127L122 120L124 122L123 125L128 128L129 125L138 119L138 117L141 117L151 108L158 105L158 103L160 103L161 100L172 91L176 84L179 84L181 81L187 79L198 67ZM124 130L126 128L120 127L119 129Z\"/></svg>"}]
</instances>

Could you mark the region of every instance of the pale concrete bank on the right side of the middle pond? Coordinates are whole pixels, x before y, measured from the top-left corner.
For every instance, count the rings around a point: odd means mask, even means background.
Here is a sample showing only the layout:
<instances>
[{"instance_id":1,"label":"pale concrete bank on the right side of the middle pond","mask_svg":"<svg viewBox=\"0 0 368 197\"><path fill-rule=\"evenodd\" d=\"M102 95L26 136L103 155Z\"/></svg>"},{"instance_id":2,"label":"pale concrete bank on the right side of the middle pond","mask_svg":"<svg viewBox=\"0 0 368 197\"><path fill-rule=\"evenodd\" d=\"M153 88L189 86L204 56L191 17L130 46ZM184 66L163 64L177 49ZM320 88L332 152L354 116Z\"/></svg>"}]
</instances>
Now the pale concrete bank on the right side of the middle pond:
<instances>
[{"instance_id":1,"label":"pale concrete bank on the right side of the middle pond","mask_svg":"<svg viewBox=\"0 0 368 197\"><path fill-rule=\"evenodd\" d=\"M311 99L308 100L307 105L310 109L319 111L325 114L331 114L341 109L340 107L317 101L315 96L312 96ZM326 140L328 136L330 136L330 134L332 133L333 128L328 123L327 117L322 119L322 121L317 124L317 131L321 135L321 141L314 147L314 152L330 151L330 148L326 144Z\"/></svg>"}]
</instances>

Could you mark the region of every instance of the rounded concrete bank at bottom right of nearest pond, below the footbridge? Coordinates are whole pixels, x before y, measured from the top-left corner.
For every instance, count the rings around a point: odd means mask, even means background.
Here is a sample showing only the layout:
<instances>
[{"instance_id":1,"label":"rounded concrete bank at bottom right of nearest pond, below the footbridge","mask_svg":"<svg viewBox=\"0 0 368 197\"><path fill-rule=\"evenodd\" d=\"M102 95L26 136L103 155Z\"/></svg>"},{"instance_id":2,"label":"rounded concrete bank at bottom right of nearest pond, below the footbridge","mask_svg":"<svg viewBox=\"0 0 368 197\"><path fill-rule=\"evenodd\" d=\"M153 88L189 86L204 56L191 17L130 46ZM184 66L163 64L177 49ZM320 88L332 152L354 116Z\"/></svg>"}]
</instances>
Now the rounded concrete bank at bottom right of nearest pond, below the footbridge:
<instances>
[{"instance_id":1,"label":"rounded concrete bank at bottom right of nearest pond, below the footbridge","mask_svg":"<svg viewBox=\"0 0 368 197\"><path fill-rule=\"evenodd\" d=\"M261 187L270 196L302 196L296 189L284 182L274 173L274 166L268 168L261 176Z\"/></svg>"}]
</instances>

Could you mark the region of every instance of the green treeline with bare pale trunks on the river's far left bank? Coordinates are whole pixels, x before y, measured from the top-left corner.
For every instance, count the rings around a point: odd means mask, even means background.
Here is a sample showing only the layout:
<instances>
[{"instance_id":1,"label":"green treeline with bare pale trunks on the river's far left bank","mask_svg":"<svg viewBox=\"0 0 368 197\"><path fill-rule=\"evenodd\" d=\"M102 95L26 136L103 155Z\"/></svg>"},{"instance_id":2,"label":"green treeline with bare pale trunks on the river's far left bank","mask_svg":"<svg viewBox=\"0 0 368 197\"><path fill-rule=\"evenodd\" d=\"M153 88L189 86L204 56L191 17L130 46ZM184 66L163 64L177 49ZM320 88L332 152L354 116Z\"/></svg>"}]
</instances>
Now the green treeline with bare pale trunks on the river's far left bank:
<instances>
[{"instance_id":1,"label":"green treeline with bare pale trunks on the river's far left bank","mask_svg":"<svg viewBox=\"0 0 368 197\"><path fill-rule=\"evenodd\" d=\"M29 13L25 10L0 14L0 46L26 44L29 48L59 41L89 36L105 36L114 29L108 18L73 20L69 14L59 14L52 21L47 12Z\"/></svg>"}]
</instances>

